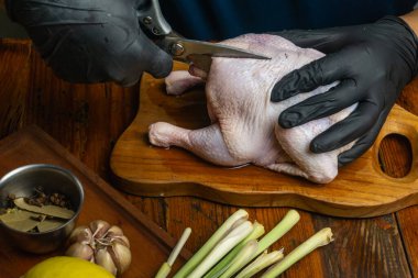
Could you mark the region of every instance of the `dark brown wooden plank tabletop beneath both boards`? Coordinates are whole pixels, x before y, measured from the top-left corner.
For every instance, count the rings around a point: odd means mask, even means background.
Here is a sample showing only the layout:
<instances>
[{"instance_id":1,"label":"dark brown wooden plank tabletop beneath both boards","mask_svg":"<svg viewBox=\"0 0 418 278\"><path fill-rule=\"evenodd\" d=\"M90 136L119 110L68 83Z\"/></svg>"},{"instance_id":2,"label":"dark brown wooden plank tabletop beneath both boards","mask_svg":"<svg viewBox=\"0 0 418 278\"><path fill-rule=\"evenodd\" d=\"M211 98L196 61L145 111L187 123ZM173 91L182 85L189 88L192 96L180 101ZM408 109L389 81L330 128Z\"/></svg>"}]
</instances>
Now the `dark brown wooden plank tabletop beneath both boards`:
<instances>
[{"instance_id":1,"label":"dark brown wooden plank tabletop beneath both boards","mask_svg":"<svg viewBox=\"0 0 418 278\"><path fill-rule=\"evenodd\" d=\"M398 103L418 114L418 80ZM138 111L139 86L72 85L57 79L28 41L0 40L0 137L36 124L89 168L112 184L109 156ZM408 171L405 140L387 138L382 165L388 175ZM237 210L196 198L141 198L124 194L151 220L179 237L190 226L186 247L196 251ZM245 208L268 231L288 208ZM301 220L275 246L290 251L321 227L336 241L314 252L283 277L418 276L418 207L372 219L339 219L299 211ZM141 246L135 246L141 248ZM0 258L1 259L1 258Z\"/></svg>"}]
</instances>

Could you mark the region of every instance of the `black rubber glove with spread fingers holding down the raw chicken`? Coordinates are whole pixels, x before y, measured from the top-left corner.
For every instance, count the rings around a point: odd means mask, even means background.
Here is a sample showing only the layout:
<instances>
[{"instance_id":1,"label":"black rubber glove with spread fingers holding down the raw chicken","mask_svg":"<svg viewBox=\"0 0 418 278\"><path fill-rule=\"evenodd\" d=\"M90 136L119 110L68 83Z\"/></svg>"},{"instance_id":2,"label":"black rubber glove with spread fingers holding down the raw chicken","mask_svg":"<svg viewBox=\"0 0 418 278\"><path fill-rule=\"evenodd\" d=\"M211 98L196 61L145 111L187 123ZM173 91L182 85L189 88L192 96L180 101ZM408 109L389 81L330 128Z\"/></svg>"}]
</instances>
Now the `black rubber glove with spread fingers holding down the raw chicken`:
<instances>
[{"instance_id":1,"label":"black rubber glove with spread fingers holding down the raw chicken","mask_svg":"<svg viewBox=\"0 0 418 278\"><path fill-rule=\"evenodd\" d=\"M285 76L273 88L272 101L340 81L329 91L285 110L279 124L293 127L359 102L346 119L310 144L314 153L323 153L359 140L340 154L339 165L358 158L374 143L397 97L417 74L415 33L402 19L386 16L369 25L275 34L328 55Z\"/></svg>"}]
</instances>

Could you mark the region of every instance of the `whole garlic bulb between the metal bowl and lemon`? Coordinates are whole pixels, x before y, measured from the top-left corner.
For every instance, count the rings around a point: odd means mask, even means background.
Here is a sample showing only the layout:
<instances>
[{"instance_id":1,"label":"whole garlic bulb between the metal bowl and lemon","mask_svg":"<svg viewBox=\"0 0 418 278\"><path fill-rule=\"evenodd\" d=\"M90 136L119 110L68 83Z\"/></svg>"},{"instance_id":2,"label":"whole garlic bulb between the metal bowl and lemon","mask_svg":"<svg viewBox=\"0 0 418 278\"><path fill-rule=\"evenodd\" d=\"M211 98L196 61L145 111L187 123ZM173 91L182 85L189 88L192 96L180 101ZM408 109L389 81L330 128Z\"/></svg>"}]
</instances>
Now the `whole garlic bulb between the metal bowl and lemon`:
<instances>
[{"instance_id":1,"label":"whole garlic bulb between the metal bowl and lemon","mask_svg":"<svg viewBox=\"0 0 418 278\"><path fill-rule=\"evenodd\" d=\"M69 236L67 256L79 257L105 267L114 276L124 273L131 264L131 251L122 229L103 220L76 227Z\"/></svg>"}]
</instances>

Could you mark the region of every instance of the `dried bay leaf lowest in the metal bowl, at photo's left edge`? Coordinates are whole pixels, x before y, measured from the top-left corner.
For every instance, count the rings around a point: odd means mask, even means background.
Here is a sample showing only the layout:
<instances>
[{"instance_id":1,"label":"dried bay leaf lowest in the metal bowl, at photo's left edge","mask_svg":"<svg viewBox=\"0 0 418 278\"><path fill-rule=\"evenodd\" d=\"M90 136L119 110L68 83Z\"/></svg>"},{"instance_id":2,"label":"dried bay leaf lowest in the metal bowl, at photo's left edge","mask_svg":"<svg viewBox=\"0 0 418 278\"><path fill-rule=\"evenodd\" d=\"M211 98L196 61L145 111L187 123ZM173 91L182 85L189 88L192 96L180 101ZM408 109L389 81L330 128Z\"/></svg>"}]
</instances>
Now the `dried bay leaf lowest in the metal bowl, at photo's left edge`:
<instances>
[{"instance_id":1,"label":"dried bay leaf lowest in the metal bowl, at photo's left edge","mask_svg":"<svg viewBox=\"0 0 418 278\"><path fill-rule=\"evenodd\" d=\"M0 221L6 225L19 230L21 232L28 232L34 229L40 222L34 218L40 214L24 210L8 210L7 213L0 215Z\"/></svg>"}]
</instances>

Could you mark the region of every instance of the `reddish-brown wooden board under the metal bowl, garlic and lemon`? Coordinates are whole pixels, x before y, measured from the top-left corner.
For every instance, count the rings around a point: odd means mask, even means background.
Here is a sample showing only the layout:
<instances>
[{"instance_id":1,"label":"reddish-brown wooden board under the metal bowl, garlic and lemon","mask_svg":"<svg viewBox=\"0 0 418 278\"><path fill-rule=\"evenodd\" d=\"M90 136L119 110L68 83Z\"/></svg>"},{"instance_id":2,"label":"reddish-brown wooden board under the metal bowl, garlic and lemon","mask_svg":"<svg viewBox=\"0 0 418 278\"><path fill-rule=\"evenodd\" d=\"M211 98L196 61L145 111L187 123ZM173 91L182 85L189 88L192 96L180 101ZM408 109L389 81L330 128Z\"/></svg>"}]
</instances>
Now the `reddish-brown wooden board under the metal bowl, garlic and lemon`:
<instances>
[{"instance_id":1,"label":"reddish-brown wooden board under the metal bowl, garlic and lemon","mask_svg":"<svg viewBox=\"0 0 418 278\"><path fill-rule=\"evenodd\" d=\"M1 176L19 166L38 163L62 166L80 179L85 189L85 204L77 225L102 219L122 227L131 243L132 264L121 278L154 277L175 244L168 234L38 127L25 127L0 141ZM1 233L0 246L1 278L20 277L36 263L65 252L63 247L46 255L29 254L11 245ZM184 251L175 268L188 256L188 252Z\"/></svg>"}]
</instances>

